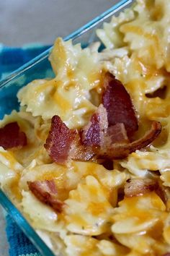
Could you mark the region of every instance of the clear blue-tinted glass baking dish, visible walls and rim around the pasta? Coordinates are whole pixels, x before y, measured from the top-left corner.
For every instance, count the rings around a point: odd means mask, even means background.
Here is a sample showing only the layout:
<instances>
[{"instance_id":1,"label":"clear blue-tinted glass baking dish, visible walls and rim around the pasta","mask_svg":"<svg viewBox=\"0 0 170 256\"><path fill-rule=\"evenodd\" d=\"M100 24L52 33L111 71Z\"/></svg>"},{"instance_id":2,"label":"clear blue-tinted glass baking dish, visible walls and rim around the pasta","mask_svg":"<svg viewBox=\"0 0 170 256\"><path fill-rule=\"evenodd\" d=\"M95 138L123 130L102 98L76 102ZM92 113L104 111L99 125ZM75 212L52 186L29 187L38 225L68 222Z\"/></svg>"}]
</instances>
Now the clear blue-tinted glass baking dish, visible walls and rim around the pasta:
<instances>
[{"instance_id":1,"label":"clear blue-tinted glass baking dish, visible walls and rim around the pasta","mask_svg":"<svg viewBox=\"0 0 170 256\"><path fill-rule=\"evenodd\" d=\"M112 8L108 9L103 14L91 20L79 30L76 30L71 35L66 36L64 40L72 39L73 43L81 43L82 47L88 46L90 43L97 40L95 30L102 27L103 22L109 22L110 17L113 14L119 14L123 9L133 4L133 0L122 0L115 4ZM32 61L29 61L24 66L12 72L9 77L0 82L0 119L4 114L10 114L13 109L19 108L17 101L17 91L28 82L35 79L44 79L46 77L53 77L53 71L48 61L48 55L51 48L43 52ZM13 220L17 223L24 234L30 239L30 241L37 247L42 256L54 256L53 252L40 239L40 236L36 233L32 226L22 216L22 213L17 210L13 203L9 200L9 197L4 194L0 189L0 203L4 207L7 213L12 216Z\"/></svg>"}]
</instances>

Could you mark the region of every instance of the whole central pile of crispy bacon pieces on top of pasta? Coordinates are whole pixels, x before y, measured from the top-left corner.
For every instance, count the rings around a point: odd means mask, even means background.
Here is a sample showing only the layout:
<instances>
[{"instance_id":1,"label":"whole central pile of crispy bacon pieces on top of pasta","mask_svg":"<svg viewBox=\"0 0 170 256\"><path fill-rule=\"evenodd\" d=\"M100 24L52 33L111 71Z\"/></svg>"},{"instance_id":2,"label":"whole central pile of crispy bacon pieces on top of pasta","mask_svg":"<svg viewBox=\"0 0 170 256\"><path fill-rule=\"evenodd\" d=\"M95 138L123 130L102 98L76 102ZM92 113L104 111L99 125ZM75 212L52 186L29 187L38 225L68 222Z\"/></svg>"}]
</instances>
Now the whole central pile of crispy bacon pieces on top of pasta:
<instances>
[{"instance_id":1,"label":"whole central pile of crispy bacon pieces on top of pasta","mask_svg":"<svg viewBox=\"0 0 170 256\"><path fill-rule=\"evenodd\" d=\"M130 142L128 137L138 129L130 95L110 73L105 74L104 87L104 106L99 106L81 132L69 129L59 116L53 116L44 146L56 163L66 164L69 159L122 159L145 148L158 137L161 124L153 121L146 135Z\"/></svg>"}]
</instances>

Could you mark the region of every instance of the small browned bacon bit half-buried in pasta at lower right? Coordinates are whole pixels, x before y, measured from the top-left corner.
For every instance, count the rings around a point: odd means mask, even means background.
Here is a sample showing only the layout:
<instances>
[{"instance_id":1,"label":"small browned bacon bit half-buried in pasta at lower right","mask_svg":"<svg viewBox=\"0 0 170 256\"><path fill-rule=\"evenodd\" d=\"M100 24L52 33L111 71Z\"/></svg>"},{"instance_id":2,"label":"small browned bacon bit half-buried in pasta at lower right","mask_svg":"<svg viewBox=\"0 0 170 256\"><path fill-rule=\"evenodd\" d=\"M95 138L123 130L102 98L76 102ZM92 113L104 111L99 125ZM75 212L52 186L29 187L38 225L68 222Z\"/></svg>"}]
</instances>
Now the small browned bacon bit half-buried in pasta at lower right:
<instances>
[{"instance_id":1,"label":"small browned bacon bit half-buried in pasta at lower right","mask_svg":"<svg viewBox=\"0 0 170 256\"><path fill-rule=\"evenodd\" d=\"M158 189L155 179L128 179L125 184L125 197L138 197Z\"/></svg>"}]
</instances>

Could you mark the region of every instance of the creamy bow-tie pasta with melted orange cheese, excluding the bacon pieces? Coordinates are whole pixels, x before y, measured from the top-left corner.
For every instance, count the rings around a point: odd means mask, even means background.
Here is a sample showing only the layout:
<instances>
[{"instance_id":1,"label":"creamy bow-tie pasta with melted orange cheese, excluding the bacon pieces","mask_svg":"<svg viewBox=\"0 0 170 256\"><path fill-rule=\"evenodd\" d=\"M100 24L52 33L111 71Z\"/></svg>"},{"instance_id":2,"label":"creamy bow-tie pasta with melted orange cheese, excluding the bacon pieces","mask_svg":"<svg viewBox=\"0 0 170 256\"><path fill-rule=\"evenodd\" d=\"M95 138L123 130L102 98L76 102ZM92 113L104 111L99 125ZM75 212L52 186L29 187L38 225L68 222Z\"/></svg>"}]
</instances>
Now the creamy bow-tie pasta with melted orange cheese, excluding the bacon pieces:
<instances>
[{"instance_id":1,"label":"creamy bow-tie pasta with melted orange cheese, excluding the bacon pieces","mask_svg":"<svg viewBox=\"0 0 170 256\"><path fill-rule=\"evenodd\" d=\"M22 149L0 148L0 184L55 255L166 255L170 252L170 1L137 0L97 30L99 43L82 49L55 41L53 80L35 80L19 90L20 110L0 126L17 121L27 135ZM50 121L58 115L69 129L82 129L97 110L104 73L122 82L138 116L138 140L152 121L161 134L146 148L113 161L53 162L44 148ZM109 167L108 167L109 166ZM140 187L124 192L128 179ZM29 182L53 180L58 213L31 192ZM36 184L36 183L35 183ZM53 189L53 187L51 188ZM30 204L34 207L30 209Z\"/></svg>"}]
</instances>

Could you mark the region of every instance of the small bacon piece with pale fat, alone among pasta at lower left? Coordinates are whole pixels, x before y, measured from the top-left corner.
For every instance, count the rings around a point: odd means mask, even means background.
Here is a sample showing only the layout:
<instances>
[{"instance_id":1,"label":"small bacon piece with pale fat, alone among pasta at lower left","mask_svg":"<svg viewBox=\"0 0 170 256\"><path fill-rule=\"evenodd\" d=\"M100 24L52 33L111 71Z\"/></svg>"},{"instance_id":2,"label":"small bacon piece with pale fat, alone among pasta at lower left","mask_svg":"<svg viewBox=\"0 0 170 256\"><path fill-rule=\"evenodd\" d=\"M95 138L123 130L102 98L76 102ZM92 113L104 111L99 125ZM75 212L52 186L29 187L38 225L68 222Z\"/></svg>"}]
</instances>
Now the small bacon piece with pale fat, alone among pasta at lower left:
<instances>
[{"instance_id":1,"label":"small bacon piece with pale fat, alone among pasta at lower left","mask_svg":"<svg viewBox=\"0 0 170 256\"><path fill-rule=\"evenodd\" d=\"M58 200L58 191L53 179L45 181L27 182L31 192L38 200L52 207L56 212L61 213L64 202Z\"/></svg>"}]
</instances>

